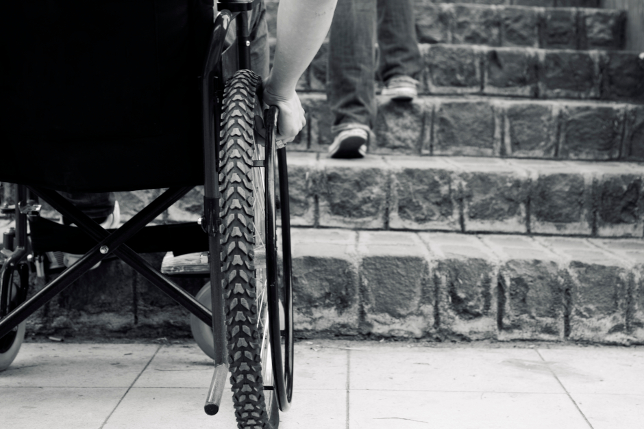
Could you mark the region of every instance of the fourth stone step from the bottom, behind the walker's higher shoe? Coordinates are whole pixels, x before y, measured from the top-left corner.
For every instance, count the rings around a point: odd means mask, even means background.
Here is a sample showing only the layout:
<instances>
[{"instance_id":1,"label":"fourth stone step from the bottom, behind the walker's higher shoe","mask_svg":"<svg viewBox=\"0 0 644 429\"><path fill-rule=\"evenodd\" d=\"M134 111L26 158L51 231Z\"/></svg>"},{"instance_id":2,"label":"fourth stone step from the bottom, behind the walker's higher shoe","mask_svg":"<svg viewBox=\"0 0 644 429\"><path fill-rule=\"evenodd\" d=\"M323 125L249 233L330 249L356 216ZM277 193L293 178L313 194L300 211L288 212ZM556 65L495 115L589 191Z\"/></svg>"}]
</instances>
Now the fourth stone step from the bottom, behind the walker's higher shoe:
<instances>
[{"instance_id":1,"label":"fourth stone step from the bottom, behind the walker's higher shoe","mask_svg":"<svg viewBox=\"0 0 644 429\"><path fill-rule=\"evenodd\" d=\"M423 94L484 94L530 99L600 99L644 103L644 55L471 44L421 44ZM323 45L300 91L327 88Z\"/></svg>"}]
</instances>

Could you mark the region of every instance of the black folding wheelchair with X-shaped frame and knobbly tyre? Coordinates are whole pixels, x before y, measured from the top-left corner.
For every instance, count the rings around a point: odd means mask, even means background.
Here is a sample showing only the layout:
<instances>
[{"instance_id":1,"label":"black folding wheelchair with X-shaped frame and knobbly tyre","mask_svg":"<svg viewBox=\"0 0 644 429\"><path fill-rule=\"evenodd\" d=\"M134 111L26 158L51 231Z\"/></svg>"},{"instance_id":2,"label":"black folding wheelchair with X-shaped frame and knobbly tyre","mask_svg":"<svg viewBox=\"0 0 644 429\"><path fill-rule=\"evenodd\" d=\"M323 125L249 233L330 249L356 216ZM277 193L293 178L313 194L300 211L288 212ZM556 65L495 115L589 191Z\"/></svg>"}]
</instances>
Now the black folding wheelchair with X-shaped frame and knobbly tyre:
<instances>
[{"instance_id":1,"label":"black folding wheelchair with X-shaped frame and knobbly tyre","mask_svg":"<svg viewBox=\"0 0 644 429\"><path fill-rule=\"evenodd\" d=\"M264 111L263 147L253 134L262 105L249 70L253 3L218 3L216 18L207 0L11 3L0 30L0 181L17 185L0 271L0 370L21 347L25 319L115 255L208 326L212 348L199 344L214 360L206 413L219 411L230 373L238 427L277 428L293 395L288 181L275 107ZM88 13L100 18L87 22ZM233 21L236 41L226 46ZM196 185L199 222L147 226ZM57 192L151 188L166 190L114 230ZM75 227L42 218L40 200ZM42 255L53 250L84 256L29 294L29 272L42 276ZM210 290L195 298L138 255L169 251L201 255Z\"/></svg>"}]
</instances>

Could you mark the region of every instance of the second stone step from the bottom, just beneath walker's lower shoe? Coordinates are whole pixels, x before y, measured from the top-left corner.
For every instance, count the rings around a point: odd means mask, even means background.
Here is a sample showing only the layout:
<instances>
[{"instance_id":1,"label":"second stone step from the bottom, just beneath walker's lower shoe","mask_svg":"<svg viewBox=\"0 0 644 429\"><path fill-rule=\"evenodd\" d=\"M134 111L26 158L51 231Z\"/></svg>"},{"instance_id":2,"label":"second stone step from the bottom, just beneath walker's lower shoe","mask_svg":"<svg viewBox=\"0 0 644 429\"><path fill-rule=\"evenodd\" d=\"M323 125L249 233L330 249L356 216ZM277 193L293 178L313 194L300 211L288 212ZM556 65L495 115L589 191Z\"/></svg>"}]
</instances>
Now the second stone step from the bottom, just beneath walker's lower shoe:
<instances>
[{"instance_id":1,"label":"second stone step from the bottom, just beneath walker's lower shoe","mask_svg":"<svg viewBox=\"0 0 644 429\"><path fill-rule=\"evenodd\" d=\"M288 157L291 222L319 228L643 237L644 164Z\"/></svg>"}]
</instances>

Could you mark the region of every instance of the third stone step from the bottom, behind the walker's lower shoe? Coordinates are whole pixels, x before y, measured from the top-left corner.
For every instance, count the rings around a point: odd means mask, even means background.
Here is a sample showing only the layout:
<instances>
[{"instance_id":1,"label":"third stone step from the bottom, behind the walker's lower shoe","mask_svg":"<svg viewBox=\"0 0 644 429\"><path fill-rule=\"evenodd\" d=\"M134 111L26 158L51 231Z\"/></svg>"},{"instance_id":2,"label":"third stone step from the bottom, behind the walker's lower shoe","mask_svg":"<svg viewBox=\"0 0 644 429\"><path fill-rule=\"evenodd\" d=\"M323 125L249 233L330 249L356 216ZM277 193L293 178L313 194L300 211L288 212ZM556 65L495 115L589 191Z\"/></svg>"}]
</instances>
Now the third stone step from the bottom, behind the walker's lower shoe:
<instances>
[{"instance_id":1,"label":"third stone step from the bottom, behind the walker's lower shoe","mask_svg":"<svg viewBox=\"0 0 644 429\"><path fill-rule=\"evenodd\" d=\"M301 94L307 127L294 151L326 153L332 115L323 94ZM372 154L644 160L644 105L485 96L378 99Z\"/></svg>"}]
</instances>

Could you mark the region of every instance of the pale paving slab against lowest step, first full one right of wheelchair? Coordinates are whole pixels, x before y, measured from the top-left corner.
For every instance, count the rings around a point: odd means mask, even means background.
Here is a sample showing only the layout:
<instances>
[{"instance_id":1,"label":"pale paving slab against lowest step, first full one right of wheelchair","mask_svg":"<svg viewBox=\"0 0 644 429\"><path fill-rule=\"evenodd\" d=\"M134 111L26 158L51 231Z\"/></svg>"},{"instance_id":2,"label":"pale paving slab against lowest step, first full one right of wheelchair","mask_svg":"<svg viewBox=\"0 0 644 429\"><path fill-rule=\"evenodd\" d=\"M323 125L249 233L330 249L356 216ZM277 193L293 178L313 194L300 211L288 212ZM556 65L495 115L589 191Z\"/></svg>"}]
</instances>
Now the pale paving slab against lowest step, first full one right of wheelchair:
<instances>
[{"instance_id":1,"label":"pale paving slab against lowest step, first full one right of wheelchair","mask_svg":"<svg viewBox=\"0 0 644 429\"><path fill-rule=\"evenodd\" d=\"M565 393L534 350L351 351L353 390ZM456 427L456 426L455 426Z\"/></svg>"}]
</instances>

